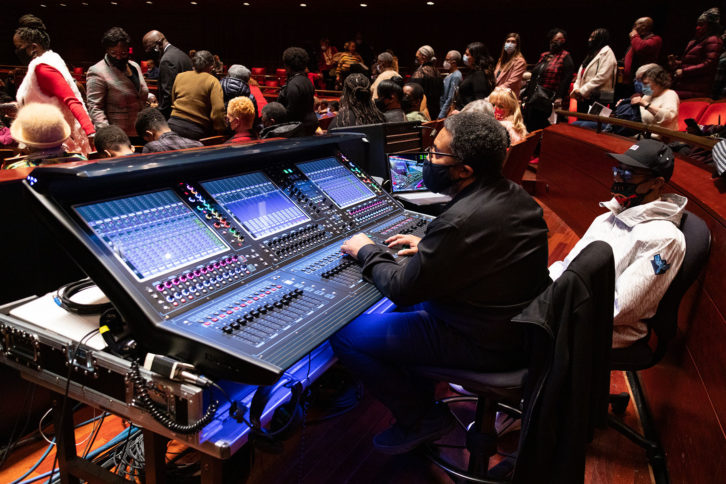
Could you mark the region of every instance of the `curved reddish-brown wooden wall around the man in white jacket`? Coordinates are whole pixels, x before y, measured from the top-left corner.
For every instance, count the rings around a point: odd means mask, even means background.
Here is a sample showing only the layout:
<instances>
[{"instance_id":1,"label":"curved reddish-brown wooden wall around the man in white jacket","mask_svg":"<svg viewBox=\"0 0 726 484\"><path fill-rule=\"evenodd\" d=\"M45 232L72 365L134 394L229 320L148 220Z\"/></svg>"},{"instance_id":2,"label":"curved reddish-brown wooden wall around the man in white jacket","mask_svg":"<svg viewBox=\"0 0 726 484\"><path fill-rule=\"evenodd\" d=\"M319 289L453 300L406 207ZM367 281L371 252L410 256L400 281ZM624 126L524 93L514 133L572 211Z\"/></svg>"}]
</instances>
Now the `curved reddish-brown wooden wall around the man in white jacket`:
<instances>
[{"instance_id":1,"label":"curved reddish-brown wooden wall around the man in white jacket","mask_svg":"<svg viewBox=\"0 0 726 484\"><path fill-rule=\"evenodd\" d=\"M598 202L610 198L615 160L607 153L622 153L633 142L571 125L547 128L537 196L582 235L604 211ZM641 380L672 481L716 482L726 475L726 184L677 158L668 189L688 197L686 209L708 224L711 255L681 306L678 337ZM641 450L633 446L633 452Z\"/></svg>"}]
</instances>

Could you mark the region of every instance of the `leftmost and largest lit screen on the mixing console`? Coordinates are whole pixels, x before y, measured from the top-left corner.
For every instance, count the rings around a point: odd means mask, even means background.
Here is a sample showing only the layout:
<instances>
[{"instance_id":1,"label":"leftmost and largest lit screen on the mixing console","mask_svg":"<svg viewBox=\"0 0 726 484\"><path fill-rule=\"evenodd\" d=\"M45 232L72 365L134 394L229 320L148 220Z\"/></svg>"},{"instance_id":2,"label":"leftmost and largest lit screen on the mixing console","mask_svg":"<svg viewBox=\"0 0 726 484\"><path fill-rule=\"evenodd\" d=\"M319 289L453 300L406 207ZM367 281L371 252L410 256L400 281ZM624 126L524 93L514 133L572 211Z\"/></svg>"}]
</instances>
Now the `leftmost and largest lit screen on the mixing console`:
<instances>
[{"instance_id":1,"label":"leftmost and largest lit screen on the mixing console","mask_svg":"<svg viewBox=\"0 0 726 484\"><path fill-rule=\"evenodd\" d=\"M228 249L171 190L74 208L139 280Z\"/></svg>"}]
</instances>

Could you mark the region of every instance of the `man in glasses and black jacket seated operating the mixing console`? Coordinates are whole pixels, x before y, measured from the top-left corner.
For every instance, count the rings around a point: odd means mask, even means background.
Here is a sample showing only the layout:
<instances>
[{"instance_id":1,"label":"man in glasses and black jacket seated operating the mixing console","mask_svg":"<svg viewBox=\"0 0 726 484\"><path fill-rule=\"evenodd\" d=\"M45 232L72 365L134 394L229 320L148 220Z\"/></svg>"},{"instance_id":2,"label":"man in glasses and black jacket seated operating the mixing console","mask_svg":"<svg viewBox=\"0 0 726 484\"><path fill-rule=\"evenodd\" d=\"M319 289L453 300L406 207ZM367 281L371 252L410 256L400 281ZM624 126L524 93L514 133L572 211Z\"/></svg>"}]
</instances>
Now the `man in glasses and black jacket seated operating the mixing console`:
<instances>
[{"instance_id":1,"label":"man in glasses and black jacket seated operating the mixing console","mask_svg":"<svg viewBox=\"0 0 726 484\"><path fill-rule=\"evenodd\" d=\"M408 452L454 425L434 403L434 382L410 371L431 365L505 371L526 365L521 328L509 319L549 283L542 209L501 174L508 141L481 113L446 119L424 163L432 191L453 196L423 238L385 241L411 255L405 265L364 234L342 251L400 310L362 316L331 339L340 360L396 417L374 439L388 454Z\"/></svg>"}]
</instances>

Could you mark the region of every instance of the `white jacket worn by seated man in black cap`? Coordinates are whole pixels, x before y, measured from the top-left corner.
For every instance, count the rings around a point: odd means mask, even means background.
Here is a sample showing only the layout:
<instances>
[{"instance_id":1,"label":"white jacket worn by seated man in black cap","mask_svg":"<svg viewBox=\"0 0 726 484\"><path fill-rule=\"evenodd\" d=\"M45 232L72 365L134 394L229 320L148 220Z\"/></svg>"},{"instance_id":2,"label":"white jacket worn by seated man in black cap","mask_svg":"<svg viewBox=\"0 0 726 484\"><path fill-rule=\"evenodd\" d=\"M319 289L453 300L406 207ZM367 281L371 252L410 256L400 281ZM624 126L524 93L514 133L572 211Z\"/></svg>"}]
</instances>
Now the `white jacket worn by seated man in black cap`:
<instances>
[{"instance_id":1,"label":"white jacket worn by seated man in black cap","mask_svg":"<svg viewBox=\"0 0 726 484\"><path fill-rule=\"evenodd\" d=\"M674 193L627 210L614 198L601 202L610 212L592 222L564 261L550 266L550 277L557 279L590 242L610 244L615 256L613 348L630 346L648 334L643 320L655 314L686 252L678 228L686 203L686 197Z\"/></svg>"}]
</instances>

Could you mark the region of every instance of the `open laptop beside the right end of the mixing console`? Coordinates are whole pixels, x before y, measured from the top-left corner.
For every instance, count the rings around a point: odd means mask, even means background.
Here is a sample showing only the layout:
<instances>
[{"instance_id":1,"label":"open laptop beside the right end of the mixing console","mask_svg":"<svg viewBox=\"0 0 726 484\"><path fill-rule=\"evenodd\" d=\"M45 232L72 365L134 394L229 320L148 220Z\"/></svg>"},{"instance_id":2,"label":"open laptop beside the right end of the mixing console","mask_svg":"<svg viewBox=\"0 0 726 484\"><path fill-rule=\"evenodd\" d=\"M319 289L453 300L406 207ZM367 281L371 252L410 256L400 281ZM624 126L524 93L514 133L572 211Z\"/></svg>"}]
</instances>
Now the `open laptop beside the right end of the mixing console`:
<instances>
[{"instance_id":1,"label":"open laptop beside the right end of the mixing console","mask_svg":"<svg viewBox=\"0 0 726 484\"><path fill-rule=\"evenodd\" d=\"M426 188L423 181L424 153L395 153L386 155L388 159L391 194L416 205L446 203L448 195L434 193Z\"/></svg>"}]
</instances>

